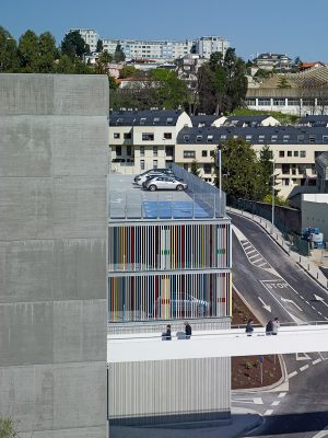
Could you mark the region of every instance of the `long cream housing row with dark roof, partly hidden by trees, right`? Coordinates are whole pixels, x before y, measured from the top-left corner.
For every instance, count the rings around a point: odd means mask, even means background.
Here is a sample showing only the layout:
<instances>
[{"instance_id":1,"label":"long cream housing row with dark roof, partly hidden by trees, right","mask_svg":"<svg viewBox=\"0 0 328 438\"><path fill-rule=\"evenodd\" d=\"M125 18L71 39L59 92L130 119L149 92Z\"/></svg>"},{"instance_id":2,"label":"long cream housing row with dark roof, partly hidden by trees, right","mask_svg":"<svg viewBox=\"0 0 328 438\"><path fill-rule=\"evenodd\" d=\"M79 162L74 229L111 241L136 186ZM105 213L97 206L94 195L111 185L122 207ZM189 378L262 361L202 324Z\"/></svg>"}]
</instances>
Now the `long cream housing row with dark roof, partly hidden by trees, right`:
<instances>
[{"instance_id":1,"label":"long cream housing row with dark roof, partly hidden by trees, right","mask_svg":"<svg viewBox=\"0 0 328 438\"><path fill-rule=\"evenodd\" d=\"M315 160L328 150L326 128L293 126L184 128L177 136L175 162L190 170L196 160L200 176L213 183L213 152L221 141L242 137L259 154L265 145L272 150L279 195L288 197L295 186L315 184Z\"/></svg>"}]
</instances>

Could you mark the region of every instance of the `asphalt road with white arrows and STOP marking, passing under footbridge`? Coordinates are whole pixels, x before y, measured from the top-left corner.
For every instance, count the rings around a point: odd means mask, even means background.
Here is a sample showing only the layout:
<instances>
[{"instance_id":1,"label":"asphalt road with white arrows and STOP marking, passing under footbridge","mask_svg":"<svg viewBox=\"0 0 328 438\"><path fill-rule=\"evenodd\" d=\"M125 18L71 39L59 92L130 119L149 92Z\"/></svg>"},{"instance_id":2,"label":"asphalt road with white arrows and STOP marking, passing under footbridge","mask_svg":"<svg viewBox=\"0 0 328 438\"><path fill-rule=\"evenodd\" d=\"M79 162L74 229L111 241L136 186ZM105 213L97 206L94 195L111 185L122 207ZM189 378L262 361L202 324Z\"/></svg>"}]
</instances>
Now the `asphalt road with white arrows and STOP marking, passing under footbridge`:
<instances>
[{"instance_id":1,"label":"asphalt road with white arrows and STOP marking, passing under footbridge","mask_svg":"<svg viewBox=\"0 0 328 438\"><path fill-rule=\"evenodd\" d=\"M233 283L261 321L281 323L328 320L328 291L300 268L256 223L231 214ZM234 392L233 406L263 415L251 437L328 437L328 353L284 356L289 389Z\"/></svg>"}]
</instances>

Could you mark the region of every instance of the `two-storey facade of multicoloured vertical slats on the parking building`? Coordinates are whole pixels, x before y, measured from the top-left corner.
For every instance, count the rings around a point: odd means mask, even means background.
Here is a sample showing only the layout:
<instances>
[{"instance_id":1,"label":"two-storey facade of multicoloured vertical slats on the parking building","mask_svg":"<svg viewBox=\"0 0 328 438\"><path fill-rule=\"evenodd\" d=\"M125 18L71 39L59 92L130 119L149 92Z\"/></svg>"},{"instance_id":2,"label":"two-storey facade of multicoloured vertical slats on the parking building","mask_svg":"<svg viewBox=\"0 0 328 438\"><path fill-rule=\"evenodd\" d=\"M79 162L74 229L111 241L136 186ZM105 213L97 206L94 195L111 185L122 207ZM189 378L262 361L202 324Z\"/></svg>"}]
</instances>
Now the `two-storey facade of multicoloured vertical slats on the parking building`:
<instances>
[{"instance_id":1,"label":"two-storey facade of multicoloured vertical slats on the parking building","mask_svg":"<svg viewBox=\"0 0 328 438\"><path fill-rule=\"evenodd\" d=\"M110 223L108 320L230 314L230 221Z\"/></svg>"}]
</instances>

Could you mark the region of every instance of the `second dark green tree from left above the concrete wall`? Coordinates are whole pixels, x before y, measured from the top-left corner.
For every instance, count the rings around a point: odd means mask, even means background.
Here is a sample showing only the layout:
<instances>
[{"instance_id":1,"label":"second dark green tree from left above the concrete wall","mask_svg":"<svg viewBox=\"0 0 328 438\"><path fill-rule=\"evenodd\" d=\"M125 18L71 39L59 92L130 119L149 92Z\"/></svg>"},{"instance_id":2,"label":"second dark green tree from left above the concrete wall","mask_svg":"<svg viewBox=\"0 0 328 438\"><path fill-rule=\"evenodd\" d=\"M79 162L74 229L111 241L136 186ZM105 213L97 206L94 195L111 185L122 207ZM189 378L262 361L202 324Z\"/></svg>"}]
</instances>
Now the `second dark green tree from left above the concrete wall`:
<instances>
[{"instance_id":1,"label":"second dark green tree from left above the concrete wall","mask_svg":"<svg viewBox=\"0 0 328 438\"><path fill-rule=\"evenodd\" d=\"M26 31L19 42L19 60L22 72L38 71L39 38L33 31Z\"/></svg>"}]
</instances>

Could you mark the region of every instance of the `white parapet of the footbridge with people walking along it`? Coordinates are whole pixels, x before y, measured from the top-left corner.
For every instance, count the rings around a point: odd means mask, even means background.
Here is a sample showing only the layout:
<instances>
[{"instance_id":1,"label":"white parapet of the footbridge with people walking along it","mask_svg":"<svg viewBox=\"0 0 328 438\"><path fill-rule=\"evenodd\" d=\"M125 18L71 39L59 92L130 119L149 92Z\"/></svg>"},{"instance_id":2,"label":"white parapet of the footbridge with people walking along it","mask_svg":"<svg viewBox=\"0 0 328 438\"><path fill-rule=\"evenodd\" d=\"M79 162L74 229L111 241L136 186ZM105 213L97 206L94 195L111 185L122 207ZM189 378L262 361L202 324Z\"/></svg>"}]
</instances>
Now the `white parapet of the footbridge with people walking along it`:
<instances>
[{"instance_id":1,"label":"white parapet of the footbridge with people walking along it","mask_svg":"<svg viewBox=\"0 0 328 438\"><path fill-rule=\"evenodd\" d=\"M278 335L255 328L253 336L244 330L195 332L190 339L162 341L161 333L107 336L107 361L136 362L191 358L253 356L325 351L328 325L280 327Z\"/></svg>"}]
</instances>

